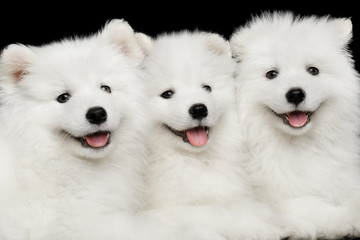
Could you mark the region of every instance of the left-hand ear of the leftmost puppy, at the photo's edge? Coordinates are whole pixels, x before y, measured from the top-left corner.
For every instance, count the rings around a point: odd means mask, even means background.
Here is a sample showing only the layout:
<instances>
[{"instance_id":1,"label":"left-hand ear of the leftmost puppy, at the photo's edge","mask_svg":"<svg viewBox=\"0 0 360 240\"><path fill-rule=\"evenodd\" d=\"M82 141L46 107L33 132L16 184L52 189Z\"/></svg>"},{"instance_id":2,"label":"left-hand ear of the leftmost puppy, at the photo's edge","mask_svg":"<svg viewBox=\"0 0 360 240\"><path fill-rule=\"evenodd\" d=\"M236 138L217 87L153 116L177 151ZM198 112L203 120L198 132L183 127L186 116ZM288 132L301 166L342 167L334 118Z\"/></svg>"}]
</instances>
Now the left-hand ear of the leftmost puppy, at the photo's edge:
<instances>
[{"instance_id":1,"label":"left-hand ear of the leftmost puppy, at the photo's edge","mask_svg":"<svg viewBox=\"0 0 360 240\"><path fill-rule=\"evenodd\" d=\"M36 54L30 47L22 44L10 44L4 48L1 58L2 79L11 79L12 82L19 82L27 73L29 67L36 59Z\"/></svg>"}]
</instances>

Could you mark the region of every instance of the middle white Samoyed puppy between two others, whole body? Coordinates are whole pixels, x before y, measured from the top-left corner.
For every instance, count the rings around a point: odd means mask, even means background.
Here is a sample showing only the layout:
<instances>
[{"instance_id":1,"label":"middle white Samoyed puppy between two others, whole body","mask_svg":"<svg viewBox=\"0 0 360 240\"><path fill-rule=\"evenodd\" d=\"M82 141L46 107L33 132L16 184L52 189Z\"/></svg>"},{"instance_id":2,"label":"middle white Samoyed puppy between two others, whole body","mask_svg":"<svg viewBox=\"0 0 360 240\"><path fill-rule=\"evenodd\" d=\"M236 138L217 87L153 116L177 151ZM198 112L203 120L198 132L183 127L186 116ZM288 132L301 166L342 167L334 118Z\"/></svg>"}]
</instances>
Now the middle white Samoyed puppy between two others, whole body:
<instances>
[{"instance_id":1,"label":"middle white Samoyed puppy between two others, whole body","mask_svg":"<svg viewBox=\"0 0 360 240\"><path fill-rule=\"evenodd\" d=\"M241 167L229 42L216 33L188 30L138 38L146 54L152 121L148 209L208 239L294 234L253 198Z\"/></svg>"}]
</instances>

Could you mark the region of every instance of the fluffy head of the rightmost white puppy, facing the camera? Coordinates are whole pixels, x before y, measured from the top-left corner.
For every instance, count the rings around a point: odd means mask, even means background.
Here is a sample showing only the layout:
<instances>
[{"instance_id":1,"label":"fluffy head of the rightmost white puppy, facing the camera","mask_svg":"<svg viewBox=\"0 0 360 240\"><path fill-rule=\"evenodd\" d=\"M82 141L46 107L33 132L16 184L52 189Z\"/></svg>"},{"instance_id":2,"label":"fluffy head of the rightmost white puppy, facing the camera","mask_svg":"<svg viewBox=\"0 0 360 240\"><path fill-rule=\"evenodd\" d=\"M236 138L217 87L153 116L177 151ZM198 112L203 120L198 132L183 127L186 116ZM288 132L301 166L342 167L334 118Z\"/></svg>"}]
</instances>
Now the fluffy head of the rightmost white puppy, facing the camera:
<instances>
[{"instance_id":1,"label":"fluffy head of the rightmost white puppy, facing the camera","mask_svg":"<svg viewBox=\"0 0 360 240\"><path fill-rule=\"evenodd\" d=\"M244 107L258 109L253 112L265 124L291 135L328 122L336 102L353 95L353 83L344 84L354 79L343 50L349 29L344 19L274 14L238 30L231 42L239 62L238 95L249 104Z\"/></svg>"}]
</instances>

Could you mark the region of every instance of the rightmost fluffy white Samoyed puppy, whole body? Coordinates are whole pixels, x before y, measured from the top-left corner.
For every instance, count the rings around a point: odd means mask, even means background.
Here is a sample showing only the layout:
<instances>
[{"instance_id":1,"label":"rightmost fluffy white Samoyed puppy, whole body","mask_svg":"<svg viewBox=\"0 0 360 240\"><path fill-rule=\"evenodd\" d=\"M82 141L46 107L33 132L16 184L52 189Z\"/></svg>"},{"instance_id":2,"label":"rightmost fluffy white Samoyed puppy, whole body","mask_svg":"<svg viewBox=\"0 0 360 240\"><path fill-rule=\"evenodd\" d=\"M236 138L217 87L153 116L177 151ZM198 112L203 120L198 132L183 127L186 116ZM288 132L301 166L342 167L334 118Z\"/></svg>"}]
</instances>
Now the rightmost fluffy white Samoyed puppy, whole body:
<instances>
[{"instance_id":1,"label":"rightmost fluffy white Samoyed puppy, whole body","mask_svg":"<svg viewBox=\"0 0 360 240\"><path fill-rule=\"evenodd\" d=\"M264 12L236 29L239 122L256 192L326 239L360 234L359 76L348 18Z\"/></svg>"}]
</instances>

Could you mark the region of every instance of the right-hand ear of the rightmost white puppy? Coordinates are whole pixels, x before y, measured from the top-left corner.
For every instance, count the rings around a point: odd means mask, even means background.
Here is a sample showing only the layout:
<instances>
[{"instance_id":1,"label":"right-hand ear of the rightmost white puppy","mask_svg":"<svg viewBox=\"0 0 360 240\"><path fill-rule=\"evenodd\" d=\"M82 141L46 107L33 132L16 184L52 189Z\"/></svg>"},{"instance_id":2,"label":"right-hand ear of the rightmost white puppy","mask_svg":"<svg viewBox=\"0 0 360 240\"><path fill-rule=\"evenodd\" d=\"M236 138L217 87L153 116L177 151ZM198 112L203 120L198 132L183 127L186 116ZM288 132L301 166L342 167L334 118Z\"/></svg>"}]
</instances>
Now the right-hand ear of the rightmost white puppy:
<instances>
[{"instance_id":1,"label":"right-hand ear of the rightmost white puppy","mask_svg":"<svg viewBox=\"0 0 360 240\"><path fill-rule=\"evenodd\" d=\"M329 20L329 23L333 26L335 38L339 40L342 46L346 46L350 43L353 37L353 25L349 18L335 18Z\"/></svg>"}]
</instances>

